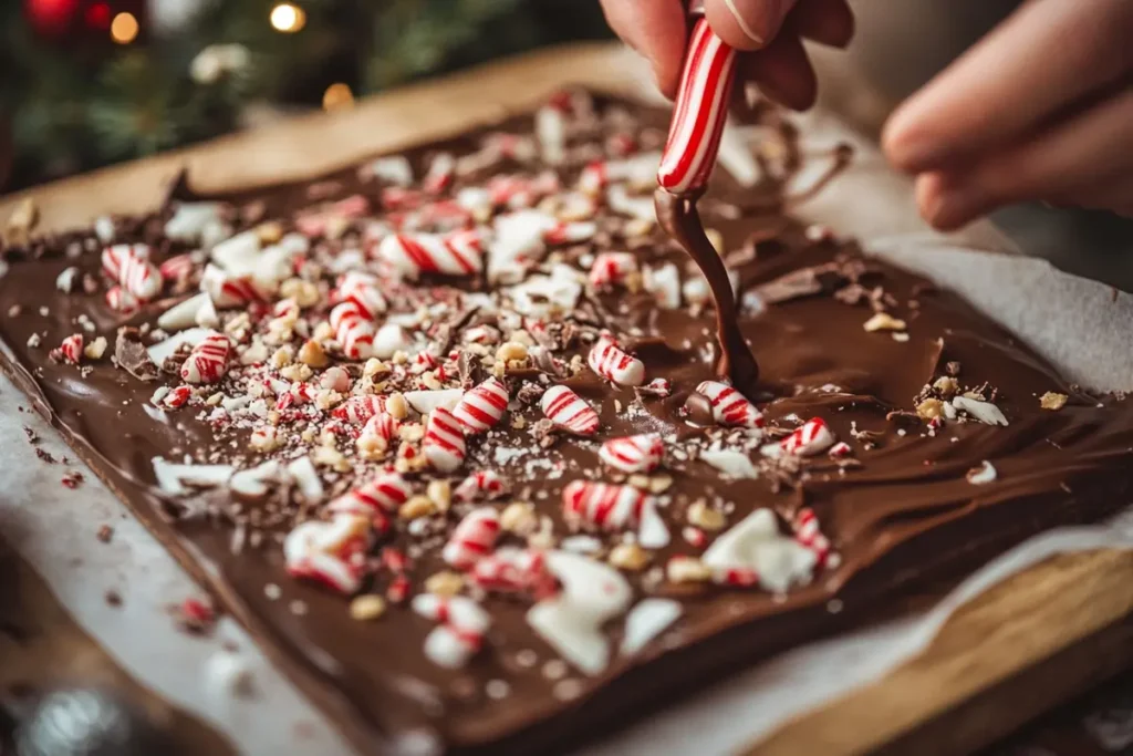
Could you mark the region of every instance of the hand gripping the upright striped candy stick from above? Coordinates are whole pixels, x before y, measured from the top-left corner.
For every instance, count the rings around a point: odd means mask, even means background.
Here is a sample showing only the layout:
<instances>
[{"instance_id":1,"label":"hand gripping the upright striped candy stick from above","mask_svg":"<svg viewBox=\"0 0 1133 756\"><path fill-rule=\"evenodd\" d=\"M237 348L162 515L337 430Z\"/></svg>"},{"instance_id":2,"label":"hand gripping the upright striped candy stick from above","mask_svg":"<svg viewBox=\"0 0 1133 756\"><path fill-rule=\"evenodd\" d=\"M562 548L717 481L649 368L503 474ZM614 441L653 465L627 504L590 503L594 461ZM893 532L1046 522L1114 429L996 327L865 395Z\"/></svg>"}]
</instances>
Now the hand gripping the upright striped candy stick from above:
<instances>
[{"instance_id":1,"label":"hand gripping the upright striped candy stick from above","mask_svg":"<svg viewBox=\"0 0 1133 756\"><path fill-rule=\"evenodd\" d=\"M674 96L688 37L683 0L602 0L602 7L614 32L649 60L661 91ZM853 36L846 0L706 0L705 16L733 48L758 51L740 58L740 79L796 110L817 94L801 40L841 48Z\"/></svg>"}]
</instances>

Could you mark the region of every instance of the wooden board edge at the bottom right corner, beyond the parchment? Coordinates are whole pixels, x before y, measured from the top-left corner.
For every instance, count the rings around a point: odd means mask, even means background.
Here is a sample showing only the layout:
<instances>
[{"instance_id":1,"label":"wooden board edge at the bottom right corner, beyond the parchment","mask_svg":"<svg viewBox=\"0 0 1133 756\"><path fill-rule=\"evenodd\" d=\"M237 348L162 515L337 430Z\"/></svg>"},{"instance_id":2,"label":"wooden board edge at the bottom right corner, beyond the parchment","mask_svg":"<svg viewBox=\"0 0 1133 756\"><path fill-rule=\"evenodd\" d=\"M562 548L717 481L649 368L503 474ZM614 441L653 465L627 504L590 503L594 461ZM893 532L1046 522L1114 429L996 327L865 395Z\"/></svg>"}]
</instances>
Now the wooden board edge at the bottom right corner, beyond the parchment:
<instances>
[{"instance_id":1,"label":"wooden board edge at the bottom right corner, beyond the parchment","mask_svg":"<svg viewBox=\"0 0 1133 756\"><path fill-rule=\"evenodd\" d=\"M1062 554L965 604L915 659L746 753L971 753L1130 665L1133 551Z\"/></svg>"}]
</instances>

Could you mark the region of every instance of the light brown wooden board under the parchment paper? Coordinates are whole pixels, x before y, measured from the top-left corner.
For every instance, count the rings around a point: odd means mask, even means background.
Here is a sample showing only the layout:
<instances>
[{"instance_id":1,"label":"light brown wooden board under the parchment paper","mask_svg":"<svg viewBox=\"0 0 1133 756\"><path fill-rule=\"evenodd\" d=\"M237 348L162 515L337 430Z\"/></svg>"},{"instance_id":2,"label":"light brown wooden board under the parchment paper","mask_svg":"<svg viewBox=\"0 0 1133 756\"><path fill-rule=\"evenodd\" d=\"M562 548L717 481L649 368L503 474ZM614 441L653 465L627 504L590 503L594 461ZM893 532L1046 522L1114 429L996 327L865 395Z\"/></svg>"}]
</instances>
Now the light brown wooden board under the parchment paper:
<instances>
[{"instance_id":1,"label":"light brown wooden board under the parchment paper","mask_svg":"<svg viewBox=\"0 0 1133 756\"><path fill-rule=\"evenodd\" d=\"M862 86L845 66L835 61L828 68L836 71L840 91ZM71 228L101 214L153 209L154 198L182 168L205 190L314 177L367 154L451 136L527 109L564 84L637 91L639 70L632 56L610 45L544 51L368 99L334 117L292 119L7 197L0 199L0 229L26 196L36 201L41 230ZM485 97L485 92L493 96ZM868 219L859 215L875 228L854 228L854 219L849 219L838 224L841 232L876 231L879 215L893 233L925 230L905 179L878 164L868 181L863 190L884 210ZM976 224L963 240L1004 246L988 224ZM45 594L34 576L25 575L20 584ZM51 610L45 617L43 632L62 639L58 648L83 649L76 659L84 665L125 679L109 656L91 651L93 642L76 634L63 612ZM962 608L918 659L787 723L750 753L969 753L1130 664L1133 553L1059 557ZM41 671L52 673L52 665ZM36 673L34 665L27 673Z\"/></svg>"}]
</instances>

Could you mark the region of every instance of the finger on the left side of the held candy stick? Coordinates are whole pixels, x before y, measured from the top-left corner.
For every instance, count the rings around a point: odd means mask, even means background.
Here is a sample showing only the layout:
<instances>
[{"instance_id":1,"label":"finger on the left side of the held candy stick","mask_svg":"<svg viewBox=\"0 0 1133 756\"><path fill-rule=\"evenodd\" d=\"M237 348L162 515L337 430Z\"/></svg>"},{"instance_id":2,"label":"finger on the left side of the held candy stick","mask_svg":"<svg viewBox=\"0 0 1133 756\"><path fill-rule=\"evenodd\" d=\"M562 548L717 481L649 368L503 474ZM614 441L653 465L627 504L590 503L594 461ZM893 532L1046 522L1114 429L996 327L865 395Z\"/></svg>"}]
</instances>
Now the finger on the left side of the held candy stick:
<instances>
[{"instance_id":1,"label":"finger on the left side of the held candy stick","mask_svg":"<svg viewBox=\"0 0 1133 756\"><path fill-rule=\"evenodd\" d=\"M617 36L649 61L662 93L675 96L688 35L681 0L602 0L602 8Z\"/></svg>"}]
</instances>

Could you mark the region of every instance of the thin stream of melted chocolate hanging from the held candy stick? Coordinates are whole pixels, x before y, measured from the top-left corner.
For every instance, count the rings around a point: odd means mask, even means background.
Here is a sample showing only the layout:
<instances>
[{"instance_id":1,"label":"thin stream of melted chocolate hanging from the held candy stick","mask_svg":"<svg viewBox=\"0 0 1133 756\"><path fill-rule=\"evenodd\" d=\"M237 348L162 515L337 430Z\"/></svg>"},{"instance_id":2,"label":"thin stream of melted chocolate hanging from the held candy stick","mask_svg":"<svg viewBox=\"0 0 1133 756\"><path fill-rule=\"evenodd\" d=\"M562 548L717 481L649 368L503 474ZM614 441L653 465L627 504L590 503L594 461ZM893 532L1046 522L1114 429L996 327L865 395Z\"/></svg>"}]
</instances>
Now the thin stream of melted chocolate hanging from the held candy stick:
<instances>
[{"instance_id":1,"label":"thin stream of melted chocolate hanging from the held candy stick","mask_svg":"<svg viewBox=\"0 0 1133 756\"><path fill-rule=\"evenodd\" d=\"M705 235L700 213L697 212L697 198L679 197L657 189L654 194L657 220L708 280L716 301L716 376L731 381L742 393L753 396L759 381L759 365L740 332L732 281L719 253Z\"/></svg>"}]
</instances>

